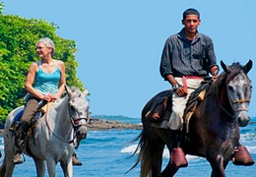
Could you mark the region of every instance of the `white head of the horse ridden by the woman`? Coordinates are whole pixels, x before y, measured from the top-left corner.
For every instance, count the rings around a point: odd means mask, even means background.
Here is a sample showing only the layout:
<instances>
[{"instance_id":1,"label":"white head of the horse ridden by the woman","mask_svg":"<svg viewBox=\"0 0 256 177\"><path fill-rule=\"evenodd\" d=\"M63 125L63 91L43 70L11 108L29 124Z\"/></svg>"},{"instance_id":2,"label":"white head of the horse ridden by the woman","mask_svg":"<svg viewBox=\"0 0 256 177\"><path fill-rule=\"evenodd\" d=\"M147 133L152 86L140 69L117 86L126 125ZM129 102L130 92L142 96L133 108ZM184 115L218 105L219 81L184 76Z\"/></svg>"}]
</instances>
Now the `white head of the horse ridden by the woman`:
<instances>
[{"instance_id":1,"label":"white head of the horse ridden by the woman","mask_svg":"<svg viewBox=\"0 0 256 177\"><path fill-rule=\"evenodd\" d=\"M69 110L71 120L75 129L77 139L79 141L87 137L87 124L90 121L89 118L89 102L86 99L89 91L87 89L82 92L77 88L65 87L69 96Z\"/></svg>"}]
</instances>

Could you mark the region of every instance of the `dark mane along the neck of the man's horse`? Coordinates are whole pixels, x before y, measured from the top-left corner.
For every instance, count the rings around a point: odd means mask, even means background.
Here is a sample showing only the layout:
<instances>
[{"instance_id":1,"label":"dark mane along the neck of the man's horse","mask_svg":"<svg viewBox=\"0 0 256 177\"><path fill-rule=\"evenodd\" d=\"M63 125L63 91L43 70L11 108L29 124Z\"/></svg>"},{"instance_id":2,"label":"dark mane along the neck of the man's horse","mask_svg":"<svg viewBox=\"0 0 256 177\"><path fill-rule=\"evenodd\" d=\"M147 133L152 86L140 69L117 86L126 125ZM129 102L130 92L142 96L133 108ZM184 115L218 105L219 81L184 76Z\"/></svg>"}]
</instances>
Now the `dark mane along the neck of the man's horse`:
<instances>
[{"instance_id":1,"label":"dark mane along the neck of the man's horse","mask_svg":"<svg viewBox=\"0 0 256 177\"><path fill-rule=\"evenodd\" d=\"M232 63L232 65L228 67L230 68L230 70L228 71L229 73L226 73L224 71L214 82L213 86L210 87L210 92L218 94L221 91L224 84L228 83L230 79L237 76L239 73L241 73L241 71L243 71L242 66L238 62Z\"/></svg>"}]
</instances>

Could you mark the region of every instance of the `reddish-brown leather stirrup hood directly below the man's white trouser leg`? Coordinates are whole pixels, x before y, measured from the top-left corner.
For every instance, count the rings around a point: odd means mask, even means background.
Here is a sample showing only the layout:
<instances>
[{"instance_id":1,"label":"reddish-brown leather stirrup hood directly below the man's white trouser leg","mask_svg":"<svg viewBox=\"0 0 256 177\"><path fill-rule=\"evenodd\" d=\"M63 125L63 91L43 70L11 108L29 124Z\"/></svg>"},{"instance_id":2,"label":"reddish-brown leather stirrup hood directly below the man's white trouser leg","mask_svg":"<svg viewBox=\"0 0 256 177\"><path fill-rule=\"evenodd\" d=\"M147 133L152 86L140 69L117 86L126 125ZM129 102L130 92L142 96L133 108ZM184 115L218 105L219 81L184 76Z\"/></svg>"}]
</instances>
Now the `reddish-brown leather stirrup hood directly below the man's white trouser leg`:
<instances>
[{"instance_id":1,"label":"reddish-brown leather stirrup hood directly below the man's white trouser leg","mask_svg":"<svg viewBox=\"0 0 256 177\"><path fill-rule=\"evenodd\" d=\"M171 151L171 165L176 168L187 167L187 159L182 148L173 148Z\"/></svg>"}]
</instances>

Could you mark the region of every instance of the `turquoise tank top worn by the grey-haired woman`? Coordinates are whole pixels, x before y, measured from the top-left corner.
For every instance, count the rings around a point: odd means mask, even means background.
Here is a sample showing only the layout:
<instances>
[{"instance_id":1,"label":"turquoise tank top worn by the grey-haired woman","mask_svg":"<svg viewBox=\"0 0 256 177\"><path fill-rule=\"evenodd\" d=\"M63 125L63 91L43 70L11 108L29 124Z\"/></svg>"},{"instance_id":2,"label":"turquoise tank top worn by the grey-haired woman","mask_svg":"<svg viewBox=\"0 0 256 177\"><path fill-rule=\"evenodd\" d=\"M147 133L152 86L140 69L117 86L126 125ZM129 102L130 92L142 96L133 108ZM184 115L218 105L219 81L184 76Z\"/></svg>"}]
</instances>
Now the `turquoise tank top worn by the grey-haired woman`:
<instances>
[{"instance_id":1,"label":"turquoise tank top worn by the grey-haired woman","mask_svg":"<svg viewBox=\"0 0 256 177\"><path fill-rule=\"evenodd\" d=\"M57 65L57 61L54 61L56 65L56 70L52 73L43 72L41 69L41 61L39 61L39 69L34 79L34 89L42 92L43 94L47 94L49 92L56 94L59 89L61 73Z\"/></svg>"}]
</instances>

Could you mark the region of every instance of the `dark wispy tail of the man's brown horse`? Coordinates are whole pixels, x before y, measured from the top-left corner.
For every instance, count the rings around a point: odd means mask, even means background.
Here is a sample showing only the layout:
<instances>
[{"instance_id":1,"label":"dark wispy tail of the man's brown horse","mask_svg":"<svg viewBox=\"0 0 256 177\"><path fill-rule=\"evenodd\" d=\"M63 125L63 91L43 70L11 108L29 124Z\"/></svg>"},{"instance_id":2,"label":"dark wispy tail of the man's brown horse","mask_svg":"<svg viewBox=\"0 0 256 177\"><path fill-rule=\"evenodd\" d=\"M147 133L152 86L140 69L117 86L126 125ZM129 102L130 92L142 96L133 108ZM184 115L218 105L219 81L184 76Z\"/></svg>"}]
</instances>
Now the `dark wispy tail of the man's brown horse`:
<instances>
[{"instance_id":1,"label":"dark wispy tail of the man's brown horse","mask_svg":"<svg viewBox=\"0 0 256 177\"><path fill-rule=\"evenodd\" d=\"M128 173L129 171L131 171L133 168L135 168L140 162L141 162L141 177L145 177L148 176L151 172L151 151L149 150L149 143L147 141L146 138L146 134L145 134L145 130L143 129L141 134L133 141L137 141L140 139L140 142L137 146L137 148L135 149L135 151L133 152L133 154L130 156L134 156L138 151L138 157L136 159L135 164L133 165L133 167L131 167L126 173Z\"/></svg>"}]
</instances>

